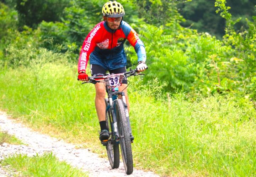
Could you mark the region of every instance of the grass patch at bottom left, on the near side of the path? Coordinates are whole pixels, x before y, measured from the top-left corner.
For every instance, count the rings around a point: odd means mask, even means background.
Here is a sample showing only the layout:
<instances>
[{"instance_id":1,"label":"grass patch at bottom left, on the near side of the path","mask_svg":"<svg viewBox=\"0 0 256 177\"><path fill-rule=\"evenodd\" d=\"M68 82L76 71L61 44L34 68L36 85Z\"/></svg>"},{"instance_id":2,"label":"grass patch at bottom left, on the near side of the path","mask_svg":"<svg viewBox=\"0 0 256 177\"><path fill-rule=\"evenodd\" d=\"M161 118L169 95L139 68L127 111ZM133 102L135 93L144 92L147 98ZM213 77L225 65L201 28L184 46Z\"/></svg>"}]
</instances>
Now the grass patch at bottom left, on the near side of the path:
<instances>
[{"instance_id":1,"label":"grass patch at bottom left, on the near side of the path","mask_svg":"<svg viewBox=\"0 0 256 177\"><path fill-rule=\"evenodd\" d=\"M73 168L66 162L58 161L52 153L28 157L17 154L9 156L1 162L2 165L10 165L12 169L21 172L22 176L45 176L45 177L85 177L87 173L77 168Z\"/></svg>"}]
</instances>

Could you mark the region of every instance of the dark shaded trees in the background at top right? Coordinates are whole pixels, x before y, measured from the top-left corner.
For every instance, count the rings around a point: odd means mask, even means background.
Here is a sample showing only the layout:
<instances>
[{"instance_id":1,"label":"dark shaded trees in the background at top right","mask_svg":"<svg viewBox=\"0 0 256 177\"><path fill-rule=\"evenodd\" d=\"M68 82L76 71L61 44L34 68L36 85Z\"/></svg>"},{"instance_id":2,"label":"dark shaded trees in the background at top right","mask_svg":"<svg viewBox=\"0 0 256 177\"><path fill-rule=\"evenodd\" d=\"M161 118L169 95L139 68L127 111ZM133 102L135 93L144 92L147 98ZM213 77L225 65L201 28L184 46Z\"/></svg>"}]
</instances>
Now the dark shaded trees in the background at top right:
<instances>
[{"instance_id":1,"label":"dark shaded trees in the background at top right","mask_svg":"<svg viewBox=\"0 0 256 177\"><path fill-rule=\"evenodd\" d=\"M215 13L217 8L214 6L215 0L193 0L191 2L178 5L179 12L186 19L181 24L184 27L197 29L198 32L208 32L221 39L225 34L225 19ZM226 0L226 4L232 14L231 19L241 20L234 25L235 30L241 27L248 28L246 18L252 20L255 15L254 0Z\"/></svg>"}]
</instances>

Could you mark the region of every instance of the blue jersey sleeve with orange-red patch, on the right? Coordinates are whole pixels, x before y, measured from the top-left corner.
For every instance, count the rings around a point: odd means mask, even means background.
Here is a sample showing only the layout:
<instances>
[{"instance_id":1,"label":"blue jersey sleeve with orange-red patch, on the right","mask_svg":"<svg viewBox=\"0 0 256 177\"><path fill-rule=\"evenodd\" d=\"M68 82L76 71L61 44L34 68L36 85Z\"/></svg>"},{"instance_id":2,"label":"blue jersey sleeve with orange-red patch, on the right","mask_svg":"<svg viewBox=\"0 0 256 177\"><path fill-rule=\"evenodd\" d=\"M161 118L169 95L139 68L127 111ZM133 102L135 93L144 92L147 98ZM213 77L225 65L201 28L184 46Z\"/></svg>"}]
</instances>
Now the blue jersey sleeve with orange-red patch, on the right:
<instances>
[{"instance_id":1,"label":"blue jersey sleeve with orange-red patch, on the right","mask_svg":"<svg viewBox=\"0 0 256 177\"><path fill-rule=\"evenodd\" d=\"M135 30L130 27L130 25L126 22L123 22L124 25L124 34L127 37L127 40L130 42L130 44L134 47L137 56L138 56L138 62L139 61L146 61L146 50L143 42L139 39L138 34L135 32Z\"/></svg>"}]
</instances>

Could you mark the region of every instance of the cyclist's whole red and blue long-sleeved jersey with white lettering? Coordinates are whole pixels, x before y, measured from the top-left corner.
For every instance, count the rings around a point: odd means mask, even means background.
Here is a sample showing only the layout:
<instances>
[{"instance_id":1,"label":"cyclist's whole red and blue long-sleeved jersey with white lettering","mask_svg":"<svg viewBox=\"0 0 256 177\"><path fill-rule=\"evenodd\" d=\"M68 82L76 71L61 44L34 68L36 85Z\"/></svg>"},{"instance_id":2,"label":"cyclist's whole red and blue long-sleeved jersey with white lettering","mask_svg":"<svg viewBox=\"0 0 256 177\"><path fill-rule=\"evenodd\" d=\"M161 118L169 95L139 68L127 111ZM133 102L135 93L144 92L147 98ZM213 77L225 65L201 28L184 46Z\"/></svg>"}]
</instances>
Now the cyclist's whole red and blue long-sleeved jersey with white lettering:
<instances>
[{"instance_id":1,"label":"cyclist's whole red and blue long-sleeved jersey with white lettering","mask_svg":"<svg viewBox=\"0 0 256 177\"><path fill-rule=\"evenodd\" d=\"M107 23L102 21L87 35L82 45L78 72L86 70L90 56L90 64L101 65L112 70L126 66L127 59L124 53L126 39L134 47L139 61L146 61L146 51L143 42L137 33L124 21L117 30L112 30Z\"/></svg>"}]
</instances>

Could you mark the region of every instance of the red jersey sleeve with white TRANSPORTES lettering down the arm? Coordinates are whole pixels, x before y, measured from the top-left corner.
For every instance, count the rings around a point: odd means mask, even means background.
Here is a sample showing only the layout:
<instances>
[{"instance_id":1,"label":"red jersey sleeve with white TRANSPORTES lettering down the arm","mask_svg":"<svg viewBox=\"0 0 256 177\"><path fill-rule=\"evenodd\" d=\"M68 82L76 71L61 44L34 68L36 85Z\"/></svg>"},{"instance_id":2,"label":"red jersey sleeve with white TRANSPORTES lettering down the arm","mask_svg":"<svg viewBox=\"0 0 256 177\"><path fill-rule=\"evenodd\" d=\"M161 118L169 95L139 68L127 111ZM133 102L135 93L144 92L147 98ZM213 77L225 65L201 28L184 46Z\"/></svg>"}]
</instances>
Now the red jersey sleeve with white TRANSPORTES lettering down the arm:
<instances>
[{"instance_id":1,"label":"red jersey sleeve with white TRANSPORTES lettering down the arm","mask_svg":"<svg viewBox=\"0 0 256 177\"><path fill-rule=\"evenodd\" d=\"M100 24L97 24L94 29L86 36L79 55L78 60L78 73L82 70L86 70L89 56L94 51L97 41L98 30L101 28Z\"/></svg>"}]
</instances>

